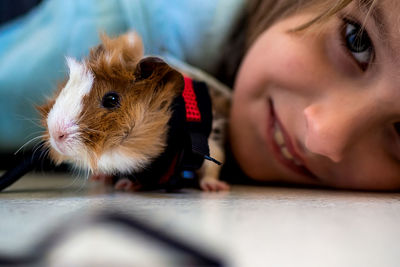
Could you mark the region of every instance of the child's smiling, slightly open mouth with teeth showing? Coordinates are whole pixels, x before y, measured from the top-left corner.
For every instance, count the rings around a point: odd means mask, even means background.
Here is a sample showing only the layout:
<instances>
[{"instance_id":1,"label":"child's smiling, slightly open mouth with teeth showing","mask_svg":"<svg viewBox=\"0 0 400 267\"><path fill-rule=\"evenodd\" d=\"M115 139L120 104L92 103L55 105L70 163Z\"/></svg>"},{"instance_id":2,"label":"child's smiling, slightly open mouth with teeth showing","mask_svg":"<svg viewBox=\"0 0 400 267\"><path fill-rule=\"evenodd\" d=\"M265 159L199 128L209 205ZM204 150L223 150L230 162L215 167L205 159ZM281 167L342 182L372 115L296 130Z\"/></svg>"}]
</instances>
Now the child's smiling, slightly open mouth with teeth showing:
<instances>
[{"instance_id":1,"label":"child's smiling, slightly open mouth with teeth showing","mask_svg":"<svg viewBox=\"0 0 400 267\"><path fill-rule=\"evenodd\" d=\"M272 100L269 99L268 102L270 108L270 121L268 124L268 132L275 157L283 166L290 169L291 171L302 176L313 178L313 180L318 179L305 166L304 160L294 150L293 143L289 135L287 134L285 128L283 127L275 113Z\"/></svg>"}]
</instances>

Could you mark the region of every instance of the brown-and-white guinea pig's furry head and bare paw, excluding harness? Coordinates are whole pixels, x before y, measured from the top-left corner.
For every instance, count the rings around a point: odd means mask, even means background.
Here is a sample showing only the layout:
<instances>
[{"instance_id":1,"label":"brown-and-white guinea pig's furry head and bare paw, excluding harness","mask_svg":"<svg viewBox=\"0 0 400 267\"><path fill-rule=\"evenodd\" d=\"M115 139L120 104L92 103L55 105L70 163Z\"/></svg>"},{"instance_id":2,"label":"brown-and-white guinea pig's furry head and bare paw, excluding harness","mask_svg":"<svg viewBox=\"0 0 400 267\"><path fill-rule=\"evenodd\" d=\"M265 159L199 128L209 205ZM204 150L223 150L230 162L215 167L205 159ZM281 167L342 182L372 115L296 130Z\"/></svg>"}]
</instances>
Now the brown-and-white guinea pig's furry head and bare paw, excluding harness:
<instances>
[{"instance_id":1,"label":"brown-and-white guinea pig's furry head and bare paw, excluding harness","mask_svg":"<svg viewBox=\"0 0 400 267\"><path fill-rule=\"evenodd\" d=\"M45 147L56 164L124 176L149 168L165 151L184 79L161 59L143 57L136 33L102 35L101 41L82 61L67 58L69 77L38 110ZM200 177L204 190L228 188L215 168L206 163L199 171L211 173Z\"/></svg>"}]
</instances>

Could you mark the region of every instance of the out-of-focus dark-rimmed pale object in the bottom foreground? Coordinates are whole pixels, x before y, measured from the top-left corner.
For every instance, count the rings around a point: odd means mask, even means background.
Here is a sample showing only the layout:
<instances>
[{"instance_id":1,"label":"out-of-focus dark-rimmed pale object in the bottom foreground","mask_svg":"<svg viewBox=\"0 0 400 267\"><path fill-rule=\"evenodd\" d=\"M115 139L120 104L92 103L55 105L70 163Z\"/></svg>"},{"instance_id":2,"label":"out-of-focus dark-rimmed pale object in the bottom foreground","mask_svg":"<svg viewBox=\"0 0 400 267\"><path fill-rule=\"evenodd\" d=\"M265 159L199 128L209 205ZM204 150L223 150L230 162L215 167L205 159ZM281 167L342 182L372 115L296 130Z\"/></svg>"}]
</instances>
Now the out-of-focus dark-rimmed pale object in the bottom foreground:
<instances>
[{"instance_id":1,"label":"out-of-focus dark-rimmed pale object in the bottom foreground","mask_svg":"<svg viewBox=\"0 0 400 267\"><path fill-rule=\"evenodd\" d=\"M0 255L1 266L224 266L200 248L132 215L78 214L28 254Z\"/></svg>"}]
</instances>

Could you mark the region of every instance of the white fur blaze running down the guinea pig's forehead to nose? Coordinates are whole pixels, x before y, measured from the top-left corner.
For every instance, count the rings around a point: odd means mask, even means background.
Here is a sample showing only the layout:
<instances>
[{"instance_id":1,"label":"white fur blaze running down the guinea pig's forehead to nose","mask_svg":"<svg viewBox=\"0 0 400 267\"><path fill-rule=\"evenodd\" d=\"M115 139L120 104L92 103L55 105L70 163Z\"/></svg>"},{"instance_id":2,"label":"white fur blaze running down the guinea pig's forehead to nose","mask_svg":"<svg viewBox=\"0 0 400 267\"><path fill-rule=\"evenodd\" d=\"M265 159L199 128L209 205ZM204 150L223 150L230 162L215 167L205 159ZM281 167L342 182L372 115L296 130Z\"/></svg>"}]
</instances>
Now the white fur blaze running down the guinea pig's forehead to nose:
<instances>
[{"instance_id":1,"label":"white fur blaze running down the guinea pig's forehead to nose","mask_svg":"<svg viewBox=\"0 0 400 267\"><path fill-rule=\"evenodd\" d=\"M59 131L71 134L78 130L77 122L83 108L82 99L89 94L93 86L94 75L85 64L73 58L66 60L69 67L69 80L47 116L50 138L54 138L52 134Z\"/></svg>"}]
</instances>

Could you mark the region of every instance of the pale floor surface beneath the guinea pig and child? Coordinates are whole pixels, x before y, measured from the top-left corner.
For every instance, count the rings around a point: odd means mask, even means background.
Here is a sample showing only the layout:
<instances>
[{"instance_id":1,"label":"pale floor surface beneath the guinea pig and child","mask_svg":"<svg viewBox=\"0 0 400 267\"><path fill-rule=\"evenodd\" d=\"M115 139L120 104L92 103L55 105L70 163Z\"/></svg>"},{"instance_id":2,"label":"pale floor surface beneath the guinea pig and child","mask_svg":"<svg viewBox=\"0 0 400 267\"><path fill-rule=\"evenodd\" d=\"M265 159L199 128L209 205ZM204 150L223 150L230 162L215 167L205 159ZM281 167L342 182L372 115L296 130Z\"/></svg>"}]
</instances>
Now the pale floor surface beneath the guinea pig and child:
<instances>
[{"instance_id":1,"label":"pale floor surface beneath the guinea pig and child","mask_svg":"<svg viewBox=\"0 0 400 267\"><path fill-rule=\"evenodd\" d=\"M29 249L77 214L107 209L211 251L227 266L400 266L395 193L233 186L228 193L127 194L38 174L0 193L0 203L0 252L7 254ZM96 248L91 253L99 257Z\"/></svg>"}]
</instances>

